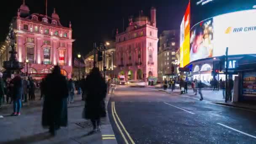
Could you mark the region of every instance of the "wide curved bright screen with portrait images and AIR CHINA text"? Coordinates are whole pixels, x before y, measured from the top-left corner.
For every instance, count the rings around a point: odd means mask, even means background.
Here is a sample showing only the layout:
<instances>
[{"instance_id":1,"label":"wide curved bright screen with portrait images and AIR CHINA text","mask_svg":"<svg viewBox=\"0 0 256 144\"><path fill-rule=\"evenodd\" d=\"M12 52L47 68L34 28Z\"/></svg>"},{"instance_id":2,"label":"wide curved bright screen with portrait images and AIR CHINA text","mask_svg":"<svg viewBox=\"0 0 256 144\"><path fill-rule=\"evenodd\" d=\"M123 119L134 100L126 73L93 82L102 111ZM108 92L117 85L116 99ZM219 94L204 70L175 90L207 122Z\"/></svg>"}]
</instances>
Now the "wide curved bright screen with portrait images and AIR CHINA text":
<instances>
[{"instance_id":1,"label":"wide curved bright screen with portrait images and AIR CHINA text","mask_svg":"<svg viewBox=\"0 0 256 144\"><path fill-rule=\"evenodd\" d=\"M238 11L201 21L190 31L190 62L197 59L256 53L256 10Z\"/></svg>"}]
</instances>

